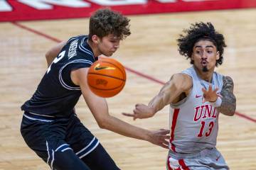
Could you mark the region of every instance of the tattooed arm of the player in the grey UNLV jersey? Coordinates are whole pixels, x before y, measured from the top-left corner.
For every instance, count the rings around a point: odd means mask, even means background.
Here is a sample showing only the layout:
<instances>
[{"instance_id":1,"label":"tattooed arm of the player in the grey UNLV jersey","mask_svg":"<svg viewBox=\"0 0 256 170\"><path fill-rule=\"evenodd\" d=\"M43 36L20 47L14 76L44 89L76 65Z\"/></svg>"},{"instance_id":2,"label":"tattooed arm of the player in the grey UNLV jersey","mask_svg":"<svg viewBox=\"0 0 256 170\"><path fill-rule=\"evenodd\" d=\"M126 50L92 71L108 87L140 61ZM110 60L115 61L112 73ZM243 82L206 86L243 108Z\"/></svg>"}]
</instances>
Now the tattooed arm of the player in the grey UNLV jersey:
<instances>
[{"instance_id":1,"label":"tattooed arm of the player in the grey UNLV jersey","mask_svg":"<svg viewBox=\"0 0 256 170\"><path fill-rule=\"evenodd\" d=\"M233 94L234 83L230 77L223 77L223 89L220 91L222 98L221 106L218 108L224 115L234 115L236 107L236 98Z\"/></svg>"}]
</instances>

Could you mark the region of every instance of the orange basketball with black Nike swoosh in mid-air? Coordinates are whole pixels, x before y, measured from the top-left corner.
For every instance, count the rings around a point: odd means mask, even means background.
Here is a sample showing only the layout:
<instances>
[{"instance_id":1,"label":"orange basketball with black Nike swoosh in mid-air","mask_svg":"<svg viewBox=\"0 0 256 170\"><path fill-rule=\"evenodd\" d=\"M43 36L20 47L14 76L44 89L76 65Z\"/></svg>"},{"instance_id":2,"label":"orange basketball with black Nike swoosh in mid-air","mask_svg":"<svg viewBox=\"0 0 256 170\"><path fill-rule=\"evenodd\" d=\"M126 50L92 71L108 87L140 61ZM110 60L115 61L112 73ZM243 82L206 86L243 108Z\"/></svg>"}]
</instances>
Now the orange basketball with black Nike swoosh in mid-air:
<instances>
[{"instance_id":1,"label":"orange basketball with black Nike swoosh in mid-air","mask_svg":"<svg viewBox=\"0 0 256 170\"><path fill-rule=\"evenodd\" d=\"M104 98L117 95L124 88L125 81L124 67L112 58L100 58L87 74L90 90Z\"/></svg>"}]
</instances>

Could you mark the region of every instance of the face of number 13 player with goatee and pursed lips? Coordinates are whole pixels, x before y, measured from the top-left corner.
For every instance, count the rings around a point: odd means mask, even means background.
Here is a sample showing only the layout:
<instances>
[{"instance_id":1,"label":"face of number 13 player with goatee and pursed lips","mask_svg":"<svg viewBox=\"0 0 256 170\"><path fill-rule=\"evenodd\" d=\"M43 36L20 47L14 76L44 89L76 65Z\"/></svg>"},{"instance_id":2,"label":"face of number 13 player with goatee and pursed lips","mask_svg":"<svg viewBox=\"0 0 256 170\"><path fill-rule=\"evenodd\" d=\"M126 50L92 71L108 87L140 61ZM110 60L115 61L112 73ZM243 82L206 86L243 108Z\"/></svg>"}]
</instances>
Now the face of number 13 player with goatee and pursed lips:
<instances>
[{"instance_id":1,"label":"face of number 13 player with goatee and pursed lips","mask_svg":"<svg viewBox=\"0 0 256 170\"><path fill-rule=\"evenodd\" d=\"M191 59L194 67L201 72L213 72L216 60L220 58L217 48L209 40L200 40L193 46Z\"/></svg>"}]
</instances>

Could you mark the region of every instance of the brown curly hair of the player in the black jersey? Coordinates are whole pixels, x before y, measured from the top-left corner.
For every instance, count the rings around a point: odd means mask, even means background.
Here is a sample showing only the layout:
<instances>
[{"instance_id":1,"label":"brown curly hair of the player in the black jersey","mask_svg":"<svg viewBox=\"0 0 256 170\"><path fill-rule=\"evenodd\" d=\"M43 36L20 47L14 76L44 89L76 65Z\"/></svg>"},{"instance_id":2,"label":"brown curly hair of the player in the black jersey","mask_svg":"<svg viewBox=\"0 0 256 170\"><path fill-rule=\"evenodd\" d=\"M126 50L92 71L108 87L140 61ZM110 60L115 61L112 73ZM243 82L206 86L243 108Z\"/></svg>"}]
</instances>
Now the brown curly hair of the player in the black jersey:
<instances>
[{"instance_id":1,"label":"brown curly hair of the player in the black jersey","mask_svg":"<svg viewBox=\"0 0 256 170\"><path fill-rule=\"evenodd\" d=\"M111 11L109 8L97 10L90 17L89 40L92 40L92 35L103 38L109 34L113 34L120 40L123 40L131 34L129 21L121 13Z\"/></svg>"}]
</instances>

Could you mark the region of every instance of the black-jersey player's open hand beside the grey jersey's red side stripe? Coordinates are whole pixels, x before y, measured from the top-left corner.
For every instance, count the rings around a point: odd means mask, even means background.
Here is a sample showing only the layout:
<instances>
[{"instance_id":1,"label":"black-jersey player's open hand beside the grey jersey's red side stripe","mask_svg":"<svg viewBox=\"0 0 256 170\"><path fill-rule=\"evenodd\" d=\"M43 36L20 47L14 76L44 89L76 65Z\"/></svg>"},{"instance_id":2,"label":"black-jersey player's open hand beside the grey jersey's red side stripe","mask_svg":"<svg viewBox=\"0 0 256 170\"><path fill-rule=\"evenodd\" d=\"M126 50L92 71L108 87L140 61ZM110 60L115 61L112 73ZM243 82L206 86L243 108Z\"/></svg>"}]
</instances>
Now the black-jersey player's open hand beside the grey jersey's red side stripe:
<instances>
[{"instance_id":1,"label":"black-jersey player's open hand beside the grey jersey's red side stripe","mask_svg":"<svg viewBox=\"0 0 256 170\"><path fill-rule=\"evenodd\" d=\"M150 131L149 142L154 145L159 145L160 147L164 147L169 149L169 139L170 139L170 130L152 130Z\"/></svg>"}]
</instances>

